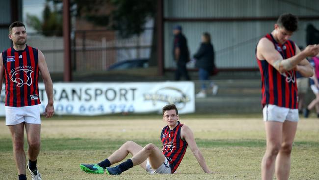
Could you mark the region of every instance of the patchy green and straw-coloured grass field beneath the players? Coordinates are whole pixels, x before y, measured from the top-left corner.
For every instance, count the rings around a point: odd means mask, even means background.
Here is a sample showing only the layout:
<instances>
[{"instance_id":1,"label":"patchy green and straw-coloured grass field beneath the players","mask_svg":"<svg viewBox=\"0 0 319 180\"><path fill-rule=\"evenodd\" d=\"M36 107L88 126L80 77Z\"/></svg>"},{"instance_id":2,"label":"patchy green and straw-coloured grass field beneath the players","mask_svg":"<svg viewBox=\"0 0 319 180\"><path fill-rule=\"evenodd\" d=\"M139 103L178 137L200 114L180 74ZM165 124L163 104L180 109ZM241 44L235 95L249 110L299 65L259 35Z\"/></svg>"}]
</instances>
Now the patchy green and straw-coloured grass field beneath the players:
<instances>
[{"instance_id":1,"label":"patchy green and straw-coloured grass field beneath the players","mask_svg":"<svg viewBox=\"0 0 319 180\"><path fill-rule=\"evenodd\" d=\"M247 118L248 117L248 118ZM181 123L195 134L197 144L214 174L204 174L188 149L174 175L149 175L137 166L120 176L82 172L80 163L104 160L127 140L159 148L165 125L160 115L54 117L42 121L38 168L44 180L258 180L266 141L258 115L185 115ZM0 119L0 179L17 179L11 136ZM25 141L27 150L27 141ZM31 179L27 172L28 180ZM292 150L290 180L319 180L319 120L301 119Z\"/></svg>"}]
</instances>

